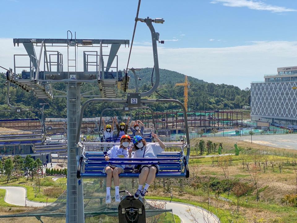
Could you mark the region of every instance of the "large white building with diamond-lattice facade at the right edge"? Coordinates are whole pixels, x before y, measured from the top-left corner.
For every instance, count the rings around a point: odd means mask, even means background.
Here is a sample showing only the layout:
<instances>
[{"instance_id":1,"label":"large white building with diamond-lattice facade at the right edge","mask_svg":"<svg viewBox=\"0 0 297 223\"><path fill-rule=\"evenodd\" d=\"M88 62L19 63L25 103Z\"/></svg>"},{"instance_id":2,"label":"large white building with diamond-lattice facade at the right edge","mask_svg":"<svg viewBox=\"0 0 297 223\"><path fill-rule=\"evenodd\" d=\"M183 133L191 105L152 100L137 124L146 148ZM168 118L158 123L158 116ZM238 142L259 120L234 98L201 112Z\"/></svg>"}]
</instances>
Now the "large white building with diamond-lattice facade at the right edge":
<instances>
[{"instance_id":1,"label":"large white building with diamond-lattice facade at the right edge","mask_svg":"<svg viewBox=\"0 0 297 223\"><path fill-rule=\"evenodd\" d=\"M251 83L251 119L297 125L297 66Z\"/></svg>"}]
</instances>

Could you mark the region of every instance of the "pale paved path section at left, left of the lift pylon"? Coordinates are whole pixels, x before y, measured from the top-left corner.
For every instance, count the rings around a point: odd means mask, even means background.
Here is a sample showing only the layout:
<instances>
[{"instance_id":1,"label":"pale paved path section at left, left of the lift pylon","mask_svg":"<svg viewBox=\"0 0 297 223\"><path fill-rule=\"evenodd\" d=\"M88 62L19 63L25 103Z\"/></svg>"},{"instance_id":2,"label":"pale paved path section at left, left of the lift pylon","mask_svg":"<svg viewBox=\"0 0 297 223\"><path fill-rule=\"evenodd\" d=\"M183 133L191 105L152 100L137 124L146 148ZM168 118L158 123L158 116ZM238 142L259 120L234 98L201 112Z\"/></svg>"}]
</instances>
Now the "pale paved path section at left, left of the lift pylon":
<instances>
[{"instance_id":1,"label":"pale paved path section at left, left of the lift pylon","mask_svg":"<svg viewBox=\"0 0 297 223\"><path fill-rule=\"evenodd\" d=\"M0 189L5 189L6 194L4 201L6 203L18 205L18 206L28 206L28 207L44 207L46 203L32 202L26 200L26 189L24 187L15 186L2 186Z\"/></svg>"}]
</instances>

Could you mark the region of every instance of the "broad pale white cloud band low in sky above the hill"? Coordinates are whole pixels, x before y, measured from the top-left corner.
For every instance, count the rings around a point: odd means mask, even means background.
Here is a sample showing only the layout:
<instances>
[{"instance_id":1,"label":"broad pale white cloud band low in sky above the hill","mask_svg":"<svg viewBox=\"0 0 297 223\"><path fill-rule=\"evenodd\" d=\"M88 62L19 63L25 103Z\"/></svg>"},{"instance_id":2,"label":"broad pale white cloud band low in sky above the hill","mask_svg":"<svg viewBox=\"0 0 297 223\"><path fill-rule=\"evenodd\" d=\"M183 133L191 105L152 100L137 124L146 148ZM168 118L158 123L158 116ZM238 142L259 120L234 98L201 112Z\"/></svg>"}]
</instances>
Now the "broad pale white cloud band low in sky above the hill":
<instances>
[{"instance_id":1,"label":"broad pale white cloud band low in sky above the hill","mask_svg":"<svg viewBox=\"0 0 297 223\"><path fill-rule=\"evenodd\" d=\"M64 70L67 70L67 48L50 48L47 50L59 50L64 55ZM83 69L83 50L82 47L78 50L79 71ZM87 48L87 50L98 50L98 48ZM108 54L110 47L104 47L103 50L104 54ZM35 51L39 54L38 48ZM297 42L286 41L256 41L250 45L222 48L165 48L158 45L158 58L160 68L244 89L250 87L251 81L264 80L265 74L277 73L278 67L296 66L296 51ZM25 53L21 44L19 47L14 47L12 39L0 38L0 66L13 68L13 55ZM119 69L126 68L128 55L129 48L122 46L118 52ZM17 65L28 66L28 61L27 57L19 57ZM153 67L152 47L133 45L129 67ZM41 68L43 69L43 64ZM0 71L4 72L1 68Z\"/></svg>"}]
</instances>

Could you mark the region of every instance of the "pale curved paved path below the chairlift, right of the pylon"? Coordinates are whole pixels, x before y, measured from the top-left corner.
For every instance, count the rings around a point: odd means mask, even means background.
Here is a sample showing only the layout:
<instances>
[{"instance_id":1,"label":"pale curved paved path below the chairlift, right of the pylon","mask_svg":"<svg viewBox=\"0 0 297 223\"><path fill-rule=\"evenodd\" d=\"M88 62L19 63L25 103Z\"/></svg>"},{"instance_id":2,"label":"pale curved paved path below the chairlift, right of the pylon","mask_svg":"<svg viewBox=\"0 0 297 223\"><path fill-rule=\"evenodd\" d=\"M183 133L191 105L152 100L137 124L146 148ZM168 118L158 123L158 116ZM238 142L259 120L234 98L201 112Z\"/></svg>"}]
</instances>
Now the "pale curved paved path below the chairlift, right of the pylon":
<instances>
[{"instance_id":1,"label":"pale curved paved path below the chairlift, right of the pylon","mask_svg":"<svg viewBox=\"0 0 297 223\"><path fill-rule=\"evenodd\" d=\"M152 204L152 201L149 201L149 203ZM165 204L165 201L158 201L162 204ZM197 222L199 223L219 223L219 220L217 220L216 216L212 215L211 213L208 213L207 210L192 206L190 204L184 204L184 203L176 203L176 202L168 202L166 203L166 209L172 209L172 212L179 216L182 223L193 223L192 218L187 213L187 209L191 209L191 212L196 215L195 218Z\"/></svg>"}]
</instances>

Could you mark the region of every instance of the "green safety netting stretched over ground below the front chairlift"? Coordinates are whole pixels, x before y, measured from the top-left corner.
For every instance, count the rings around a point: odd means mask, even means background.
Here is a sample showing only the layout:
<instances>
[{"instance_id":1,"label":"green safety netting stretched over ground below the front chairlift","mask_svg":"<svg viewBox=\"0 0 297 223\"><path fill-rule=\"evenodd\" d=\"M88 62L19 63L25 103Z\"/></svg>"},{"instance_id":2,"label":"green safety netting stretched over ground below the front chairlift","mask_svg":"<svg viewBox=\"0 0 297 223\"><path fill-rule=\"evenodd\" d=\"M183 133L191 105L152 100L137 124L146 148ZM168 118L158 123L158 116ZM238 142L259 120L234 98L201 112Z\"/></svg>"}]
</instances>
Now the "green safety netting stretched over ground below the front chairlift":
<instances>
[{"instance_id":1,"label":"green safety netting stretched over ground below the front chairlift","mask_svg":"<svg viewBox=\"0 0 297 223\"><path fill-rule=\"evenodd\" d=\"M135 185L138 182L135 180ZM120 190L130 191L132 194L131 179L121 179ZM84 179L84 216L85 223L95 222L118 222L118 205L114 203L105 204L105 179ZM114 195L114 189L111 191ZM123 194L124 195L124 194ZM146 200L144 203L147 222L174 223L174 216L171 209L154 207ZM29 222L29 223L64 223L66 222L66 191L52 204L25 213L1 215L0 222Z\"/></svg>"}]
</instances>

